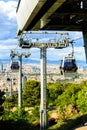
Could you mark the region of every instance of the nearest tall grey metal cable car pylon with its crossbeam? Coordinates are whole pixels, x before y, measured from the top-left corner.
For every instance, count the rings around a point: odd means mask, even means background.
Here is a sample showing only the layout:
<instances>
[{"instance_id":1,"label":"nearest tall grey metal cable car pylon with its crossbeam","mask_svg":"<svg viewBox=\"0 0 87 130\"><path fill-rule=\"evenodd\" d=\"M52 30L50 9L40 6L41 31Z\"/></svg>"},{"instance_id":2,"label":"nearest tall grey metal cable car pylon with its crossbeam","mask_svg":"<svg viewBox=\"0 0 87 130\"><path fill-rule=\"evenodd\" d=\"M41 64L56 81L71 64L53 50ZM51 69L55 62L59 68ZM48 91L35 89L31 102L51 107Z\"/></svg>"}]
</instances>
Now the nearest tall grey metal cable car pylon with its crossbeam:
<instances>
[{"instance_id":1,"label":"nearest tall grey metal cable car pylon with its crossbeam","mask_svg":"<svg viewBox=\"0 0 87 130\"><path fill-rule=\"evenodd\" d=\"M69 38L63 38L62 41L59 39L54 39L54 42L48 40L47 42L39 42L33 41L30 38L27 40L24 39L23 35L27 34L59 34L68 35L68 33L59 33L56 31L48 32L48 31L28 31L23 32L19 37L19 47L21 48L39 48L40 49L40 62L41 62L41 103L40 103L40 130L46 130L48 127L48 114L47 114L47 98L46 98L46 89L47 89L47 81L46 81L46 49L47 48L55 48L55 49L62 49L69 46Z\"/></svg>"}]
</instances>

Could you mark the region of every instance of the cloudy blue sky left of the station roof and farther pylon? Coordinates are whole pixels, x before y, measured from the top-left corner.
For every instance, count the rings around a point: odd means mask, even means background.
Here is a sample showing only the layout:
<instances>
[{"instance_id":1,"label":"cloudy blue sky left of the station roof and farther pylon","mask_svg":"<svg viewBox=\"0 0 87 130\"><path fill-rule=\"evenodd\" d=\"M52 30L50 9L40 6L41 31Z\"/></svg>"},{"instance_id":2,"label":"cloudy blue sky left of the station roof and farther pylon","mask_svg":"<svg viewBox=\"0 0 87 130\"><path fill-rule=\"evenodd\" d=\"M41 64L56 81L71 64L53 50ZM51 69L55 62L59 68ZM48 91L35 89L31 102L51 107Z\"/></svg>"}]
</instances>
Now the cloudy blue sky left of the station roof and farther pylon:
<instances>
[{"instance_id":1,"label":"cloudy blue sky left of the station roof and farther pylon","mask_svg":"<svg viewBox=\"0 0 87 130\"><path fill-rule=\"evenodd\" d=\"M16 6L17 1L0 0L0 58L10 58L10 50L16 48Z\"/></svg>"}]
</instances>

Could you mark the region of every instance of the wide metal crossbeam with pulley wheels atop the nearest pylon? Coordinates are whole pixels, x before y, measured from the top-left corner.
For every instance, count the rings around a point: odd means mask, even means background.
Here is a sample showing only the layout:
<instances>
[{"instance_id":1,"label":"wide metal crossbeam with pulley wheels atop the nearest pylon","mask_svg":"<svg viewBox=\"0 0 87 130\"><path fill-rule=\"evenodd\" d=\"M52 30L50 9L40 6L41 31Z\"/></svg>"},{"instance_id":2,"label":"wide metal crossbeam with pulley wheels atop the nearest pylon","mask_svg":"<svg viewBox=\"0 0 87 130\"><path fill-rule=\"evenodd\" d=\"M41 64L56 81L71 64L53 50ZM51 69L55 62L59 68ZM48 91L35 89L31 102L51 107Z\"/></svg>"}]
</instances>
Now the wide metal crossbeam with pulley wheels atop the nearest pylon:
<instances>
[{"instance_id":1,"label":"wide metal crossbeam with pulley wheels atop the nearest pylon","mask_svg":"<svg viewBox=\"0 0 87 130\"><path fill-rule=\"evenodd\" d=\"M37 38L31 38L31 36L34 36L37 34ZM43 39L41 37L38 38L38 35L43 35ZM49 39L45 36L51 35L57 35L56 38L50 38ZM39 35L39 36L40 36ZM58 35L60 37L58 37ZM67 46L69 46L69 36L68 32L58 32L58 31L24 31L22 34L18 37L18 45L21 48L55 48L55 49L62 49ZM55 37L55 36L54 36ZM45 38L45 41L43 41Z\"/></svg>"}]
</instances>

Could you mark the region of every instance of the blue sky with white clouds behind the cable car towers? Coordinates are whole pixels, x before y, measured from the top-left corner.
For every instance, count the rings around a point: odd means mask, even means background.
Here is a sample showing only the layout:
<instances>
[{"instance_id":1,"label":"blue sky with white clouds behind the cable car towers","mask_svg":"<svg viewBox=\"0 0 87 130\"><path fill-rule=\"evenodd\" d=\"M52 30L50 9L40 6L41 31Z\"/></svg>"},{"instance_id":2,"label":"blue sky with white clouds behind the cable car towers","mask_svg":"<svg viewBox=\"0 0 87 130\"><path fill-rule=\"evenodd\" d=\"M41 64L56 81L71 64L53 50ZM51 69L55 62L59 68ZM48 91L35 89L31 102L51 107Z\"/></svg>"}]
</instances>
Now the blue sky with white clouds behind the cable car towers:
<instances>
[{"instance_id":1,"label":"blue sky with white clouds behind the cable car towers","mask_svg":"<svg viewBox=\"0 0 87 130\"><path fill-rule=\"evenodd\" d=\"M10 58L10 50L15 49L18 41L15 38L17 33L16 7L18 0L0 0L0 59ZM64 32L64 31L63 31ZM70 32L70 39L83 37L81 32ZM83 39L74 43L75 58L85 61ZM30 49L32 60L39 60L39 49ZM71 46L65 49L47 49L47 59L60 60L71 53Z\"/></svg>"}]
</instances>

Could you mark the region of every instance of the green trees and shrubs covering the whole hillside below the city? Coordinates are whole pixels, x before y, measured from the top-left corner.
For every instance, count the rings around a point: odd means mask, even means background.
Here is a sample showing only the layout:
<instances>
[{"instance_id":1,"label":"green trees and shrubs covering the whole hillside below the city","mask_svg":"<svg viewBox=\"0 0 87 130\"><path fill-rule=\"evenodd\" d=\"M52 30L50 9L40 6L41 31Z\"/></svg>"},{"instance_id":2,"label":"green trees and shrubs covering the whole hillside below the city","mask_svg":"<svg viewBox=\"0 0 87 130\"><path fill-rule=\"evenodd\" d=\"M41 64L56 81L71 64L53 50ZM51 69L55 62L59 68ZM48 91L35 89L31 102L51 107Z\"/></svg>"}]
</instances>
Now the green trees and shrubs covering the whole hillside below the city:
<instances>
[{"instance_id":1,"label":"green trees and shrubs covering the whole hillside below the city","mask_svg":"<svg viewBox=\"0 0 87 130\"><path fill-rule=\"evenodd\" d=\"M12 95L5 99L4 93L0 92L0 109L3 108L0 114L0 129L38 129L34 124L40 120L40 82L26 81L23 88L21 117L18 114L18 96ZM57 124L50 127L50 130L70 130L86 122L87 81L82 81L80 84L48 83L47 105L48 108L56 108ZM52 116L52 112L48 112L49 117Z\"/></svg>"}]
</instances>

